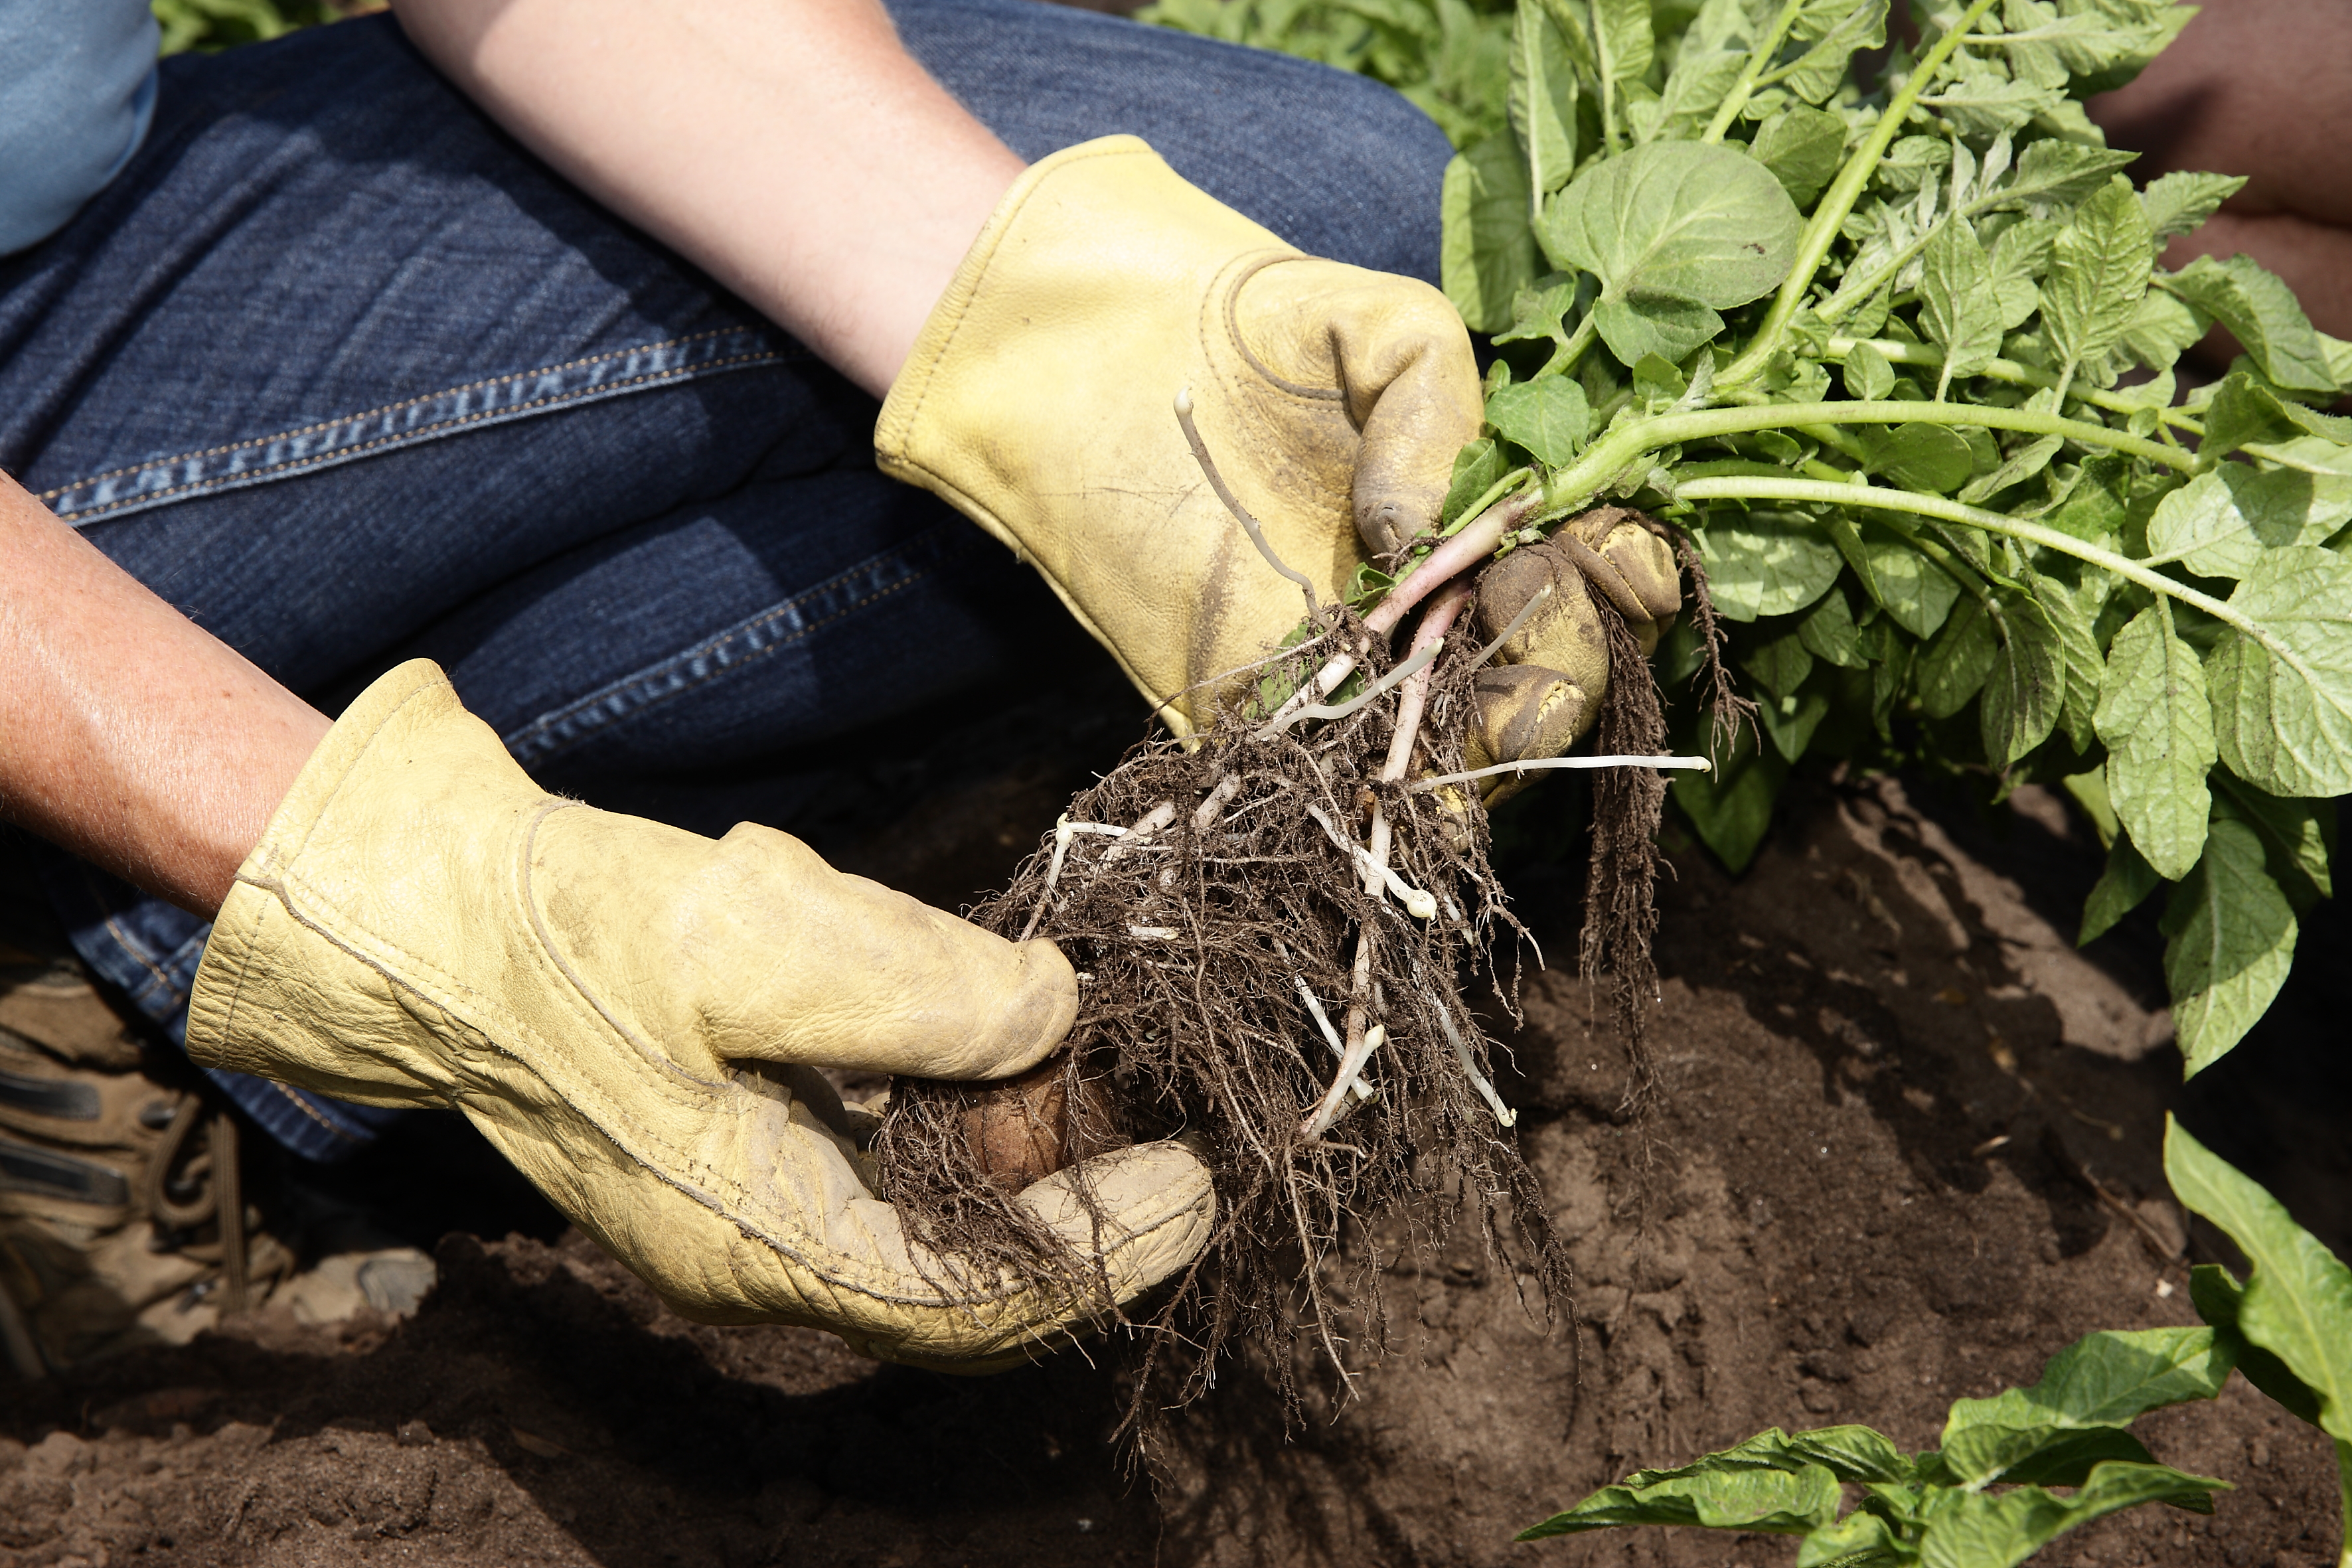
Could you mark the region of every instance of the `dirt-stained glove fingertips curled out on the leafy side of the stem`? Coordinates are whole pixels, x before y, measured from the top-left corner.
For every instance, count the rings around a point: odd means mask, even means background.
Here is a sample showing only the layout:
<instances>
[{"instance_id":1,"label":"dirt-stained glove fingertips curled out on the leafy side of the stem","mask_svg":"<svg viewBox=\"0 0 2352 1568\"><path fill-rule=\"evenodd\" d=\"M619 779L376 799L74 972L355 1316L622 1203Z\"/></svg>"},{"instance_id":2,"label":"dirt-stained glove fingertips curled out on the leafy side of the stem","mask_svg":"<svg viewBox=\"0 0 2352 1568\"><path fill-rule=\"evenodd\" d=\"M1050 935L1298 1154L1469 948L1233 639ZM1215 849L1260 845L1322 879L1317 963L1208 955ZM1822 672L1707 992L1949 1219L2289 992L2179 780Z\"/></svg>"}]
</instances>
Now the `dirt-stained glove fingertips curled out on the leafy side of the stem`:
<instances>
[{"instance_id":1,"label":"dirt-stained glove fingertips curled out on the leafy side of the stem","mask_svg":"<svg viewBox=\"0 0 2352 1568\"><path fill-rule=\"evenodd\" d=\"M1592 729L1609 693L1609 632L1613 607L1642 644L1682 609L1675 552L1623 508L1599 508L1564 524L1552 538L1512 550L1486 567L1477 583L1477 621L1486 637L1505 628L1545 588L1552 597L1496 651L1477 675L1477 717L1463 743L1463 766L1557 757ZM1606 599L1595 604L1595 599ZM1489 802L1510 792L1508 778L1489 780Z\"/></svg>"}]
</instances>

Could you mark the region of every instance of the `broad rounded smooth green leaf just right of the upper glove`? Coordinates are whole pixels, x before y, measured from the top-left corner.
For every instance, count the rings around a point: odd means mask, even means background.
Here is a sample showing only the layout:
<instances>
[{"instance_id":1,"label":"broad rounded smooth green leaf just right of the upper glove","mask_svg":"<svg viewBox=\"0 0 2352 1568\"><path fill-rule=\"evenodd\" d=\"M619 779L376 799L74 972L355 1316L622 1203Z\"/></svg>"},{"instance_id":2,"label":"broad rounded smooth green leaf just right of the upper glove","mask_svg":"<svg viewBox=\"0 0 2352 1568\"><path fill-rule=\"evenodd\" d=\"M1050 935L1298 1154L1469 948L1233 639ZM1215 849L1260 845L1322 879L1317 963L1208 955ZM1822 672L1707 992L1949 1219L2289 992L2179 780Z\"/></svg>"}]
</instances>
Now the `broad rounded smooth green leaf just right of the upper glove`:
<instances>
[{"instance_id":1,"label":"broad rounded smooth green leaf just right of the upper glove","mask_svg":"<svg viewBox=\"0 0 2352 1568\"><path fill-rule=\"evenodd\" d=\"M1799 226L1788 190L1745 153L1651 141L1569 181L1545 205L1538 237L1555 266L1602 280L1599 334L1632 364L1661 353L1649 341L1621 341L1639 336L1635 322L1696 327L1780 287ZM1717 317L1691 348L1719 329ZM1691 348L1665 357L1679 362Z\"/></svg>"}]
</instances>

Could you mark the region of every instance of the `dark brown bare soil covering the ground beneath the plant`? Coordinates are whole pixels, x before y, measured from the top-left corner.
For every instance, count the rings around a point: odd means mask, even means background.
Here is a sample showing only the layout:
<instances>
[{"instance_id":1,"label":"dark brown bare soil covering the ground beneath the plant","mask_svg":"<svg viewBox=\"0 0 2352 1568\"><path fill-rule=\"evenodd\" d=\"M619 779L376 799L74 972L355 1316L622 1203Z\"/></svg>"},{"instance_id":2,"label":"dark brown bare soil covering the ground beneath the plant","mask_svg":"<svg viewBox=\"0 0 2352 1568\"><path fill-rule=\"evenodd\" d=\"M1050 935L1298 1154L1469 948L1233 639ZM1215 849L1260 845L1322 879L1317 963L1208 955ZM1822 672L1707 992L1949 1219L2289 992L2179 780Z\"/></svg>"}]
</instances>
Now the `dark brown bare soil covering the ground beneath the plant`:
<instances>
[{"instance_id":1,"label":"dark brown bare soil covering the ground beneath the plant","mask_svg":"<svg viewBox=\"0 0 2352 1568\"><path fill-rule=\"evenodd\" d=\"M922 776L901 827L821 844L953 903L1115 755L1101 738ZM1155 1500L1103 1441L1120 1392L1075 1354L990 1380L884 1368L818 1333L682 1324L579 1237L449 1234L412 1321L263 1312L0 1385L0 1563L1764 1568L1792 1542L1510 1535L1771 1425L1865 1420L1924 1448L1952 1396L2025 1382L2091 1328L2192 1321L2185 1258L2220 1244L2161 1197L2166 1107L2352 1251L2352 1091L2345 1053L2314 1048L2343 1034L2331 917L2263 1034L2187 1095L2150 1011L2150 917L2089 957L2063 936L2096 849L2046 795L1976 816L1816 783L1743 879L1670 849L1656 1119L1623 1119L1606 999L1573 978L1531 978L1512 1034L1505 1093L1576 1262L1573 1321L1550 1335L1475 1251L1399 1269L1392 1307L1423 1328L1362 1401L1284 1441L1237 1373ZM1559 959L1581 884L1578 865L1512 872ZM2239 1490L2213 1519L2138 1509L2046 1561L2333 1561L2317 1432L2241 1382L2140 1432Z\"/></svg>"}]
</instances>

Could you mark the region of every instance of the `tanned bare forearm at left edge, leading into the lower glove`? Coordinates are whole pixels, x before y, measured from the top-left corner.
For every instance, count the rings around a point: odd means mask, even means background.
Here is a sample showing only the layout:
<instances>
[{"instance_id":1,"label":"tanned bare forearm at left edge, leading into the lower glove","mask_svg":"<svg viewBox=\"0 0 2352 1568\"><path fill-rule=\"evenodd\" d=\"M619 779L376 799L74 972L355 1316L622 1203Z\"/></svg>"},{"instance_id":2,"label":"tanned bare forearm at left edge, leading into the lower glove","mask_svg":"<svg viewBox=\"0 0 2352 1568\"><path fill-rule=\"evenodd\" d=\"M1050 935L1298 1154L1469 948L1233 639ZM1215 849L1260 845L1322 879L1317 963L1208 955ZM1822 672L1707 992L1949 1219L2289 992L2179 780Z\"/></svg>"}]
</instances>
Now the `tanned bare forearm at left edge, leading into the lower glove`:
<instances>
[{"instance_id":1,"label":"tanned bare forearm at left edge, leading into the lower glove","mask_svg":"<svg viewBox=\"0 0 2352 1568\"><path fill-rule=\"evenodd\" d=\"M0 816L209 919L325 733L0 477Z\"/></svg>"}]
</instances>

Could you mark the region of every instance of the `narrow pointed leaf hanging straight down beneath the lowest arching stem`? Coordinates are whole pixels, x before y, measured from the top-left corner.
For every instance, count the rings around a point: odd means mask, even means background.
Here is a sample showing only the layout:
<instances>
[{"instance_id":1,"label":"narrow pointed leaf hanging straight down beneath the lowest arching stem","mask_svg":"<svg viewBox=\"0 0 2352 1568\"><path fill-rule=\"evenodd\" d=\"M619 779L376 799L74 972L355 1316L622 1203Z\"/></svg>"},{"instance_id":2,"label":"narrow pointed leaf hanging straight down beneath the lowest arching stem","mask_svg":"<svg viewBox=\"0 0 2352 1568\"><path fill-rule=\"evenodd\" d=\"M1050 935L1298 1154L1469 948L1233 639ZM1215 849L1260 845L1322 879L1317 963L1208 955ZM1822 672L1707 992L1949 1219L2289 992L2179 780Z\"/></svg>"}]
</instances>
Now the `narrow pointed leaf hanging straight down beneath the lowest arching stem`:
<instances>
[{"instance_id":1,"label":"narrow pointed leaf hanging straight down beneath the lowest arching stem","mask_svg":"<svg viewBox=\"0 0 2352 1568\"><path fill-rule=\"evenodd\" d=\"M2107 799L2157 875L2187 877L2204 853L2213 708L2204 665L2173 630L2169 602L2133 616L2107 646L2091 717L2107 743Z\"/></svg>"}]
</instances>

